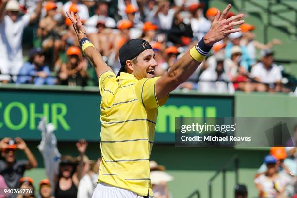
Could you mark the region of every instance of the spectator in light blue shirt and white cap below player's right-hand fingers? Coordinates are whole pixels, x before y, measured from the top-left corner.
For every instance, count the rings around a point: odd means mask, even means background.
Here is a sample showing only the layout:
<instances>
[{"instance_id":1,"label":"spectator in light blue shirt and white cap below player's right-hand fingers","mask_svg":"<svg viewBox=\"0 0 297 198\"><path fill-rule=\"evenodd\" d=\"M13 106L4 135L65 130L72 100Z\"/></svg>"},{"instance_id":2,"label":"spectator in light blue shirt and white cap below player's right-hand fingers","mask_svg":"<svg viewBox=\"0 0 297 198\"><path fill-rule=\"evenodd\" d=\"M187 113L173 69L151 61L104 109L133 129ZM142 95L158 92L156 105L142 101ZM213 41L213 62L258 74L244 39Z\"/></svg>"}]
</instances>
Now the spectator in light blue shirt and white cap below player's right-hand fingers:
<instances>
[{"instance_id":1,"label":"spectator in light blue shirt and white cap below player's right-hand fingers","mask_svg":"<svg viewBox=\"0 0 297 198\"><path fill-rule=\"evenodd\" d=\"M252 66L254 64L254 62L252 62L247 47L246 46L242 46L240 45L240 41L242 39L242 33L241 32L237 32L237 33L231 33L228 36L228 39L230 40L225 48L225 55L226 58L231 58L231 48L233 46L239 45L241 48L241 66L245 68L245 70L249 71L250 66Z\"/></svg>"}]
</instances>

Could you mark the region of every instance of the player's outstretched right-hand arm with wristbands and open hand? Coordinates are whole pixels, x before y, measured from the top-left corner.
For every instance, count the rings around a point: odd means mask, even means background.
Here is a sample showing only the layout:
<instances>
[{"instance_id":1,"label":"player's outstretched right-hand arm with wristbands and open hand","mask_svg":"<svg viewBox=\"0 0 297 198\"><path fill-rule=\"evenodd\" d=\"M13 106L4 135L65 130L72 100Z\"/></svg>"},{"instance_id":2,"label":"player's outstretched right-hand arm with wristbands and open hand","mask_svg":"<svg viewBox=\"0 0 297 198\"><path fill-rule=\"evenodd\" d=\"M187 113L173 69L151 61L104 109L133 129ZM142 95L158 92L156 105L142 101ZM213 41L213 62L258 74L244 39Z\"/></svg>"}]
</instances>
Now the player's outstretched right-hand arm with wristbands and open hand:
<instances>
[{"instance_id":1,"label":"player's outstretched right-hand arm with wristbands and open hand","mask_svg":"<svg viewBox=\"0 0 297 198\"><path fill-rule=\"evenodd\" d=\"M220 11L218 11L210 31L204 36L203 40L199 42L196 49L191 49L185 53L170 68L168 73L157 80L155 88L158 99L164 98L181 83L185 82L203 61L205 55L207 55L214 43L224 39L230 33L240 31L240 28L233 29L233 27L244 23L244 20L240 20L244 15L240 14L226 19L230 8L231 5L229 4L222 15ZM203 47L202 51L200 50L199 52L198 46L200 49Z\"/></svg>"}]
</instances>

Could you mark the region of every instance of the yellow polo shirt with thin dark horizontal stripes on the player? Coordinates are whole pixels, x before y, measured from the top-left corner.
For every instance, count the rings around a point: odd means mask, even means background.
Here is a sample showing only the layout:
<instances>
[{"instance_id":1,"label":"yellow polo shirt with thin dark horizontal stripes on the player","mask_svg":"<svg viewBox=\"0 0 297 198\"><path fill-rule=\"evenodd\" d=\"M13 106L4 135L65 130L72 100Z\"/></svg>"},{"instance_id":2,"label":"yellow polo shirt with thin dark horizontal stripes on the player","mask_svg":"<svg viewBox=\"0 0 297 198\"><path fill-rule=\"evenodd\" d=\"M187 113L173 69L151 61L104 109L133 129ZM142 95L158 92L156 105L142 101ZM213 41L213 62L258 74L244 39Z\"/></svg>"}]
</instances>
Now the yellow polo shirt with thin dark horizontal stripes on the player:
<instances>
[{"instance_id":1,"label":"yellow polo shirt with thin dark horizontal stripes on the player","mask_svg":"<svg viewBox=\"0 0 297 198\"><path fill-rule=\"evenodd\" d=\"M153 195L149 157L154 141L157 107L155 82L111 71L99 78L101 93L101 164L98 182L124 188L141 196Z\"/></svg>"}]
</instances>

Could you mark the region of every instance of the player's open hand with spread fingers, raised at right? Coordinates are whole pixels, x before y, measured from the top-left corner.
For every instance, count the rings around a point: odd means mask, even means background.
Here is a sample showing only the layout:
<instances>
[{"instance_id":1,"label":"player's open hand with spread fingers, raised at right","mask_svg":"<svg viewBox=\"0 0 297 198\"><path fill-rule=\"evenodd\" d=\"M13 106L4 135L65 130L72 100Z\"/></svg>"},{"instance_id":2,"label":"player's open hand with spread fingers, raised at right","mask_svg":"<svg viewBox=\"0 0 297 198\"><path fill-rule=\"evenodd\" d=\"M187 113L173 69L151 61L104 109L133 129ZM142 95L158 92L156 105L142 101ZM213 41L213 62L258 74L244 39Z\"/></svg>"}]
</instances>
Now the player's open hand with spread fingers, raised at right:
<instances>
[{"instance_id":1,"label":"player's open hand with spread fingers, raised at right","mask_svg":"<svg viewBox=\"0 0 297 198\"><path fill-rule=\"evenodd\" d=\"M210 31L204 36L204 42L207 45L212 46L214 43L224 39L229 34L240 31L240 28L234 27L245 22L244 20L240 20L244 15L239 14L226 19L230 8L231 5L229 4L222 14L220 11L217 12Z\"/></svg>"}]
</instances>

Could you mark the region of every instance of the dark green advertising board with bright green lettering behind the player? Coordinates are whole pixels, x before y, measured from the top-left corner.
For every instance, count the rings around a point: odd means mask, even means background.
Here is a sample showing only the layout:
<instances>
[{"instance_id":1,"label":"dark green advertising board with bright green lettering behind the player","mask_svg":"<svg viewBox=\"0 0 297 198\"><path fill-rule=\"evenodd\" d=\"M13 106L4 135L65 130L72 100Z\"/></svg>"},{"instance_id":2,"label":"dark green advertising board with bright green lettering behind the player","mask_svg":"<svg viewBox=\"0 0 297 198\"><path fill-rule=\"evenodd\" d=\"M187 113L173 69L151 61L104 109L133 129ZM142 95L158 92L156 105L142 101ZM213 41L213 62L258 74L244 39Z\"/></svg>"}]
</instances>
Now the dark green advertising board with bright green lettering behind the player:
<instances>
[{"instance_id":1,"label":"dark green advertising board with bright green lettering behind the player","mask_svg":"<svg viewBox=\"0 0 297 198\"><path fill-rule=\"evenodd\" d=\"M232 117L233 96L172 93L158 109L156 143L174 143L175 117ZM100 95L97 90L0 87L0 138L40 140L40 117L56 127L63 141L99 141Z\"/></svg>"}]
</instances>

